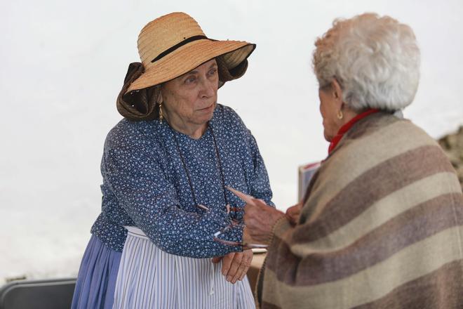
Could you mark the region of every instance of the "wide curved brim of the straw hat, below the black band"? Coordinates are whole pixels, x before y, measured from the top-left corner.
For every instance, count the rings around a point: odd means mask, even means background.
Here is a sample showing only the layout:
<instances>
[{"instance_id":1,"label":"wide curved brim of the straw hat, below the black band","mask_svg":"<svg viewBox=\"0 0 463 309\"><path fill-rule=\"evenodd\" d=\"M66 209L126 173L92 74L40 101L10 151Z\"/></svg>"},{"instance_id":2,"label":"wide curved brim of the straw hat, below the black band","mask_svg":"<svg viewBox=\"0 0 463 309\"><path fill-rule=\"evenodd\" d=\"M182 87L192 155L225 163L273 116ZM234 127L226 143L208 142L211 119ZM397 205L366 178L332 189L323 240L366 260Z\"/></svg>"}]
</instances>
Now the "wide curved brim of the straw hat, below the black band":
<instances>
[{"instance_id":1,"label":"wide curved brim of the straw hat, below the black band","mask_svg":"<svg viewBox=\"0 0 463 309\"><path fill-rule=\"evenodd\" d=\"M211 41L202 39L184 45L157 60L132 84L126 93L148 88L170 81L207 61L223 55L229 69L246 60L255 49L255 44L245 41Z\"/></svg>"}]
</instances>

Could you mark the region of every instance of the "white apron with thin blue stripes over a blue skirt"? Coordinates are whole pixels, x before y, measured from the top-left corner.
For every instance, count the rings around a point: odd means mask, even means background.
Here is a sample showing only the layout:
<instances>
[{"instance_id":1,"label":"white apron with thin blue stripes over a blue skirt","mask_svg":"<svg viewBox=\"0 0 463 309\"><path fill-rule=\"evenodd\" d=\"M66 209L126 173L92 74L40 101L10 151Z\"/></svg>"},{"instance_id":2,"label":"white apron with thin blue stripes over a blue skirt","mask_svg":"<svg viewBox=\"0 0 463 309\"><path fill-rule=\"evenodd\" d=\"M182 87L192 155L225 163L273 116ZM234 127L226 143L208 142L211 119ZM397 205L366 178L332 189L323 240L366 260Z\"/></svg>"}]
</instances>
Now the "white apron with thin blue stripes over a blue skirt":
<instances>
[{"instance_id":1,"label":"white apron with thin blue stripes over a blue skirt","mask_svg":"<svg viewBox=\"0 0 463 309\"><path fill-rule=\"evenodd\" d=\"M168 254L142 230L126 228L113 308L255 308L248 277L231 284L222 261Z\"/></svg>"}]
</instances>

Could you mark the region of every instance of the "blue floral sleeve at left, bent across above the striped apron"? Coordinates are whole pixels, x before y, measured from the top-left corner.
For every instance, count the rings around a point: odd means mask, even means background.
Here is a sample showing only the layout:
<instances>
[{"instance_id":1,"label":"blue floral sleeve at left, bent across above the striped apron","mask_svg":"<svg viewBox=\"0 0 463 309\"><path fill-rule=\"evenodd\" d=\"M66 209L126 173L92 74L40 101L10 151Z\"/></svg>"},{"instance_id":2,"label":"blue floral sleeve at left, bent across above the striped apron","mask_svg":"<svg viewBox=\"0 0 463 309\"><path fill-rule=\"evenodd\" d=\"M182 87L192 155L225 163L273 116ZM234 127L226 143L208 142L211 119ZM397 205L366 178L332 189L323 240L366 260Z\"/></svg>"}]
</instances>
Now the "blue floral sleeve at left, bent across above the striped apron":
<instances>
[{"instance_id":1,"label":"blue floral sleeve at left, bent across above the striped apron","mask_svg":"<svg viewBox=\"0 0 463 309\"><path fill-rule=\"evenodd\" d=\"M105 145L103 176L138 228L169 254L206 258L241 251L213 240L227 225L224 210L191 213L182 210L172 183L168 181L152 151L152 145ZM151 148L150 148L151 147ZM243 230L233 229L224 239L241 242Z\"/></svg>"}]
</instances>

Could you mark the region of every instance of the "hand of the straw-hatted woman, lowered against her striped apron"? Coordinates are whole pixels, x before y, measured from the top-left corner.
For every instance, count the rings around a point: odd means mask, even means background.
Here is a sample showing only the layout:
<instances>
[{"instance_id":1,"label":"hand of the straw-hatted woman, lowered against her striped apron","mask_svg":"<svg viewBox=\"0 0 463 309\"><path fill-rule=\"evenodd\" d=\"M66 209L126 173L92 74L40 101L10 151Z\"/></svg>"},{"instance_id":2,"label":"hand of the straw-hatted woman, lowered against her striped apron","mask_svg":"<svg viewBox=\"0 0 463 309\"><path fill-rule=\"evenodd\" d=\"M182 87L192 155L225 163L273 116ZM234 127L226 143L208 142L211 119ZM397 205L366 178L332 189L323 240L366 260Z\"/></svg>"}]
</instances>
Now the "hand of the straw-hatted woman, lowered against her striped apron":
<instances>
[{"instance_id":1,"label":"hand of the straw-hatted woman, lowered against her striped apron","mask_svg":"<svg viewBox=\"0 0 463 309\"><path fill-rule=\"evenodd\" d=\"M241 281L246 276L250 263L253 261L253 251L249 249L243 252L231 252L226 256L213 258L212 262L219 263L220 260L223 260L222 275L227 278L228 282L235 284L237 280Z\"/></svg>"}]
</instances>

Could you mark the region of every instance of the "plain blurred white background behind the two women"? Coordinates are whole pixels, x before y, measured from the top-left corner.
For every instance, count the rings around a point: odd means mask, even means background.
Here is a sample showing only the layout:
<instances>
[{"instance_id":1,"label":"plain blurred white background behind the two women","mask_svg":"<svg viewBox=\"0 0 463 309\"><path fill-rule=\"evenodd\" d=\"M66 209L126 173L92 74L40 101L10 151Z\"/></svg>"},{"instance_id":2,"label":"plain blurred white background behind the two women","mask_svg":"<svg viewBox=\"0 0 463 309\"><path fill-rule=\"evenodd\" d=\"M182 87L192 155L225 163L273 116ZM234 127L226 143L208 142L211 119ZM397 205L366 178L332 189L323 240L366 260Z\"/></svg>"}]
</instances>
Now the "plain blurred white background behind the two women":
<instances>
[{"instance_id":1,"label":"plain blurred white background behind the two women","mask_svg":"<svg viewBox=\"0 0 463 309\"><path fill-rule=\"evenodd\" d=\"M76 274L138 32L172 11L192 15L208 37L257 44L219 102L257 138L280 209L297 202L297 166L326 156L310 61L333 18L374 11L410 25L422 79L405 117L434 137L463 124L461 0L1 1L0 284Z\"/></svg>"}]
</instances>

